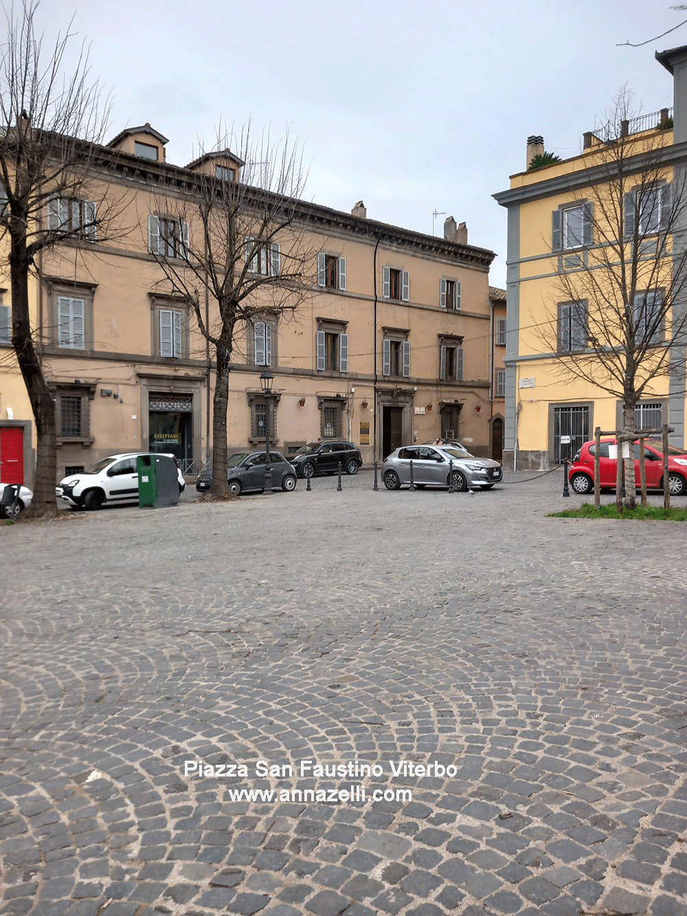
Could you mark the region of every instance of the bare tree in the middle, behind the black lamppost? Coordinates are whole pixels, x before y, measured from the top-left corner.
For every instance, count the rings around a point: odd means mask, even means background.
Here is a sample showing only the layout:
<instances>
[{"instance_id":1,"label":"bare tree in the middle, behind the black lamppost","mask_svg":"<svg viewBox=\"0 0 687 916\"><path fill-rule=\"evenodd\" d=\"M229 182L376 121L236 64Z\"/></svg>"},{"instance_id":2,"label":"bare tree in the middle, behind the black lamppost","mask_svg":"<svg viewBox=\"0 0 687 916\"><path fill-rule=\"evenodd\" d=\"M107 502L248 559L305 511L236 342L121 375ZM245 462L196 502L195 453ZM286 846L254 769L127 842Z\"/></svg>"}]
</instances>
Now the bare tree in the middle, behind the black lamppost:
<instances>
[{"instance_id":1,"label":"bare tree in the middle, behind the black lamppost","mask_svg":"<svg viewBox=\"0 0 687 916\"><path fill-rule=\"evenodd\" d=\"M192 311L213 347L210 492L226 496L229 373L237 327L260 322L264 328L268 318L295 311L310 295L314 250L306 229L307 207L300 201L302 157L288 133L280 143L273 143L268 132L254 142L249 125L235 138L220 134L213 151L202 153L194 169L191 191L159 200L159 212L169 218L157 219L149 247L170 294ZM268 366L267 339L261 358Z\"/></svg>"}]
</instances>

